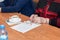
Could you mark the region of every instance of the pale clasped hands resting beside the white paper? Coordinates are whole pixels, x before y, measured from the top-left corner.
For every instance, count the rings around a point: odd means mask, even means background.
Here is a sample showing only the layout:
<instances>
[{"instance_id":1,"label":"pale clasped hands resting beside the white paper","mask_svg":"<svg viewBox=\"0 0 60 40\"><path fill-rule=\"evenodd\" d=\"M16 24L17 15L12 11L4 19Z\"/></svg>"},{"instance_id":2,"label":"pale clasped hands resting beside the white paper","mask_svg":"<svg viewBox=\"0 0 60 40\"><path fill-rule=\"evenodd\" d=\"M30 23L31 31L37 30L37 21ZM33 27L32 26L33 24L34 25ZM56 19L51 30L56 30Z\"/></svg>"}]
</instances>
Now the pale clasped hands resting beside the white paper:
<instances>
[{"instance_id":1,"label":"pale clasped hands resting beside the white paper","mask_svg":"<svg viewBox=\"0 0 60 40\"><path fill-rule=\"evenodd\" d=\"M40 23L40 24L47 23L47 24L49 24L48 18L38 17L38 15L35 15L35 14L31 15L30 20L34 23Z\"/></svg>"}]
</instances>

